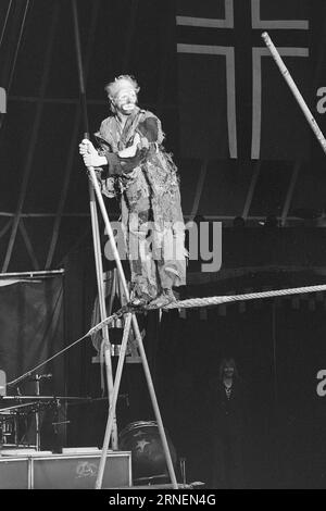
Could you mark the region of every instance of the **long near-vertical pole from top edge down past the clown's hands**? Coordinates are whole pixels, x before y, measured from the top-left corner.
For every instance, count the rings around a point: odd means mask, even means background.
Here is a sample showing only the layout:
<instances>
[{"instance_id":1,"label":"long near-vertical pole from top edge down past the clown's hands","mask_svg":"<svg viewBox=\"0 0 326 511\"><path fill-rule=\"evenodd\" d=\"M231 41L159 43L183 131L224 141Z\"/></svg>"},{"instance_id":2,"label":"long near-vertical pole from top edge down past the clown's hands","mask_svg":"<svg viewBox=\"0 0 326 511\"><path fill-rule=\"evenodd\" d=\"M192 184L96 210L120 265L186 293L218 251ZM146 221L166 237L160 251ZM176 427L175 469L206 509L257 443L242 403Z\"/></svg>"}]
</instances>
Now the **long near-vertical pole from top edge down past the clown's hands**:
<instances>
[{"instance_id":1,"label":"long near-vertical pole from top edge down past the clown's hands","mask_svg":"<svg viewBox=\"0 0 326 511\"><path fill-rule=\"evenodd\" d=\"M78 12L77 12L76 0L72 0L72 8L73 8L73 18L74 18L74 34L75 34L75 43L76 43L79 88L80 88L82 113L84 116L84 127L86 132L86 137L89 138L86 88L85 88L84 71L83 71L83 62L82 62L82 46L80 46L80 37L79 37L79 24L78 24ZM95 174L95 171L93 171L93 174ZM106 317L105 294L104 294L104 283L103 283L103 262L102 262L102 256L101 256L101 241L100 241L97 203L96 203L93 187L91 186L90 183L89 183L89 207L90 207L92 240L93 240L95 260L96 260L96 273L97 273L97 284L98 284L98 294L99 294L100 316L101 316L101 320L103 321ZM109 340L108 325L103 328L103 338L104 338L104 359L105 359L106 381L108 381L108 396L109 396L109 402L111 402L112 392L113 392L113 375L112 375L112 361L111 361L111 345ZM114 449L117 449L116 423L114 425L114 432L112 435L112 445Z\"/></svg>"}]
</instances>

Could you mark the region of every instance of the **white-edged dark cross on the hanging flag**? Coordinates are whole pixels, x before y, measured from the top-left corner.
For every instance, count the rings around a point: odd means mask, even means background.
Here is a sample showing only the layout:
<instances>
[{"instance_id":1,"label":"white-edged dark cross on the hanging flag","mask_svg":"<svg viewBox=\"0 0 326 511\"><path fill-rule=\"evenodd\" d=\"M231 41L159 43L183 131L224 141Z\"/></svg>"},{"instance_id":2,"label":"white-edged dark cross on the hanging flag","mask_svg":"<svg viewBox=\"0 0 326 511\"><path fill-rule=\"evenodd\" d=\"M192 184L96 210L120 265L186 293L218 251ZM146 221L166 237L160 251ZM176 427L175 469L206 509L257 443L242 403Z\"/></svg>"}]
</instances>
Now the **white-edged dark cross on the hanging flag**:
<instances>
[{"instance_id":1,"label":"white-edged dark cross on the hanging flag","mask_svg":"<svg viewBox=\"0 0 326 511\"><path fill-rule=\"evenodd\" d=\"M226 70L226 116L229 157L237 159L241 155L239 154L239 138L244 136L248 137L247 146L250 147L250 158L252 160L258 160L260 159L261 152L262 61L266 58L272 59L268 49L264 47L264 43L260 38L260 34L264 30L278 30L277 34L280 34L279 30L287 30L287 33L289 30L294 30L297 37L298 33L302 34L309 29L309 21L303 18L283 20L283 1L274 2L273 9L275 10L275 15L279 13L279 18L275 17L274 20L264 17L263 8L266 7L266 0L250 0L250 2L246 2L246 9L249 17L248 25L250 25L250 34L248 30L248 37L246 38L246 41L250 41L250 37L252 38L252 46L249 48L250 55L248 59L248 65L251 65L252 68L252 85L251 90L249 90L248 87L247 96L250 95L250 98L246 98L243 101L237 101L237 95L239 94L239 90L241 88L246 88L246 84L241 83L241 78L237 76L237 59L243 57L244 45L242 43L241 48L241 41L236 40L236 36L233 36L233 33L235 33L235 28L239 23L243 24L244 26L246 21L239 18L239 15L236 11L236 9L242 8L243 12L244 2L240 0L242 2L242 4L240 4L240 2L236 2L235 0L221 0L221 2L222 1L224 8L224 17L221 18L213 18L208 16L204 17L204 15L203 17L191 16L189 15L189 5L191 2L189 2L189 0L188 2L179 1L179 11L178 15L176 16L176 24L179 27L179 30L181 30L181 37L178 38L179 42L177 43L177 52L184 55L202 54L217 58L222 57L224 59ZM206 9L205 2L202 3L202 9L204 12ZM198 8L196 12L198 13ZM188 29L191 27L192 34L197 33L195 43L189 41L189 37L187 37L186 34L186 27L188 27ZM204 29L212 34L210 43L208 43L208 38L203 37ZM285 34L285 32L283 34ZM211 43L214 40L214 37L218 43ZM230 45L229 41L231 38L234 38L234 42ZM204 39L205 43L201 43L201 39ZM223 43L224 40L227 40L228 43ZM242 42L243 40L244 39L242 39ZM278 51L279 54L285 58L309 57L309 49L301 46L281 46L278 47ZM241 55L237 55L237 53L241 53ZM211 70L210 73L212 73ZM247 110L248 105L250 104L251 112L247 111L241 115L240 110L243 103L247 104ZM241 123L239 123L239 120L246 119L246 116L251 117L250 129L249 126L246 125L244 129L242 128L242 133L240 133L239 126Z\"/></svg>"}]
</instances>

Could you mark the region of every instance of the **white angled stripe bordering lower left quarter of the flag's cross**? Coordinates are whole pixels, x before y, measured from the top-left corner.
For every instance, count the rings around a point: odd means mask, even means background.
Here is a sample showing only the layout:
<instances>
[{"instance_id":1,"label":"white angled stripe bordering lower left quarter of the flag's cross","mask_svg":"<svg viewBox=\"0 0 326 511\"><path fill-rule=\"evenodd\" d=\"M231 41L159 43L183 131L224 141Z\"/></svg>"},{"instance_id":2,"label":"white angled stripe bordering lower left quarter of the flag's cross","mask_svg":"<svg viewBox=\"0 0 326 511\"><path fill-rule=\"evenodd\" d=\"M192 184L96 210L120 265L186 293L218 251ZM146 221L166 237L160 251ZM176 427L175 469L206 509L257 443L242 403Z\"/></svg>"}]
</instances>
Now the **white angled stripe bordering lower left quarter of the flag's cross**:
<instances>
[{"instance_id":1,"label":"white angled stripe bordering lower left quarter of the flag's cross","mask_svg":"<svg viewBox=\"0 0 326 511\"><path fill-rule=\"evenodd\" d=\"M226 97L227 127L230 158L237 158L237 113L236 113L236 70L235 49L227 46L177 45L178 53L225 55L226 58Z\"/></svg>"}]
</instances>

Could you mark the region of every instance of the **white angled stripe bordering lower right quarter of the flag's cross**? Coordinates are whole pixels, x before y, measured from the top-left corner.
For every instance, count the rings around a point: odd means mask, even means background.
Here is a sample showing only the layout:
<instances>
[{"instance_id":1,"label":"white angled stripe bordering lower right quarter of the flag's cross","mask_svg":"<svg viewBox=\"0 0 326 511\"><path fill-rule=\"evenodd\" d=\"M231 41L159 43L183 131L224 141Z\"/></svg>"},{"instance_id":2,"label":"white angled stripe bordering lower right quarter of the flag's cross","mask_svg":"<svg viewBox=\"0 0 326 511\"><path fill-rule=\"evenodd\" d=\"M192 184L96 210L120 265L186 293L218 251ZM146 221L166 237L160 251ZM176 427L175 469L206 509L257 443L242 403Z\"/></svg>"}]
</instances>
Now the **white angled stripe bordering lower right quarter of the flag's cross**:
<instances>
[{"instance_id":1,"label":"white angled stripe bordering lower right quarter of the flag's cross","mask_svg":"<svg viewBox=\"0 0 326 511\"><path fill-rule=\"evenodd\" d=\"M280 55L309 57L308 48L277 48ZM262 127L262 57L271 57L268 48L252 48L252 139L251 159L259 160Z\"/></svg>"}]
</instances>

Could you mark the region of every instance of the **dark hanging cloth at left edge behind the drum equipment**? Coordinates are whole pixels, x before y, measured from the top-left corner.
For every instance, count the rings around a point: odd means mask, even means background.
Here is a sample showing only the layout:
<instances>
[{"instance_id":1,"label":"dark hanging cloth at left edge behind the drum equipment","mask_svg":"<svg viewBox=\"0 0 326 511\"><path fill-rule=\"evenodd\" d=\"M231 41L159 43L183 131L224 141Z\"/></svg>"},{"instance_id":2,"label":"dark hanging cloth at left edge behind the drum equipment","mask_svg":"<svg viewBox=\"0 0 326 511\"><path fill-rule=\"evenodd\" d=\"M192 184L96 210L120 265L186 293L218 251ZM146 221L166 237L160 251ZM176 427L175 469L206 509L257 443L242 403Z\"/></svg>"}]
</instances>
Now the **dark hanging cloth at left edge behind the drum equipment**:
<instances>
[{"instance_id":1,"label":"dark hanging cloth at left edge behind the drum equipment","mask_svg":"<svg viewBox=\"0 0 326 511\"><path fill-rule=\"evenodd\" d=\"M2 278L1 284L8 279ZM0 286L0 367L7 374L7 383L25 373L64 347L63 336L63 278L62 276L17 278L11 285ZM8 385L8 396L34 396L35 375L51 374L40 381L40 395L65 395L64 356L41 366L37 372L22 378L16 385ZM2 400L1 408L13 406ZM65 402L40 408L41 446L53 447L58 435L64 441L64 426L54 431L53 422L64 422ZM26 409L20 413L18 440L35 445L35 414Z\"/></svg>"}]
</instances>

